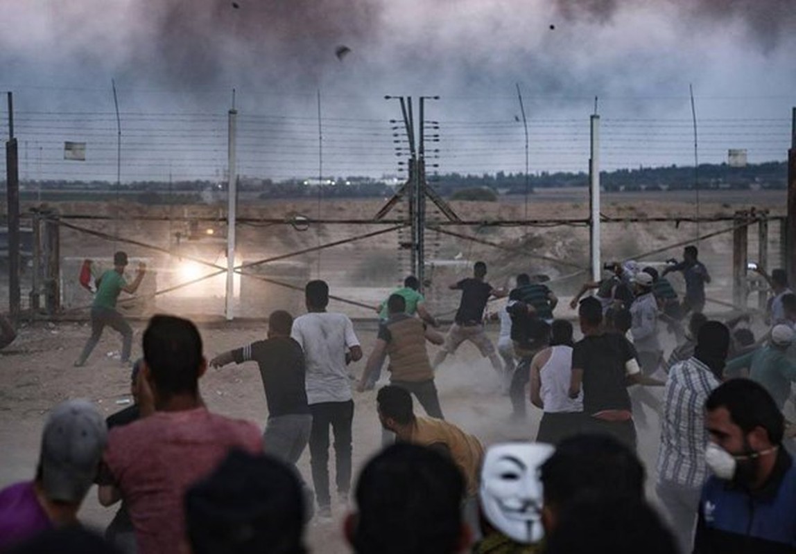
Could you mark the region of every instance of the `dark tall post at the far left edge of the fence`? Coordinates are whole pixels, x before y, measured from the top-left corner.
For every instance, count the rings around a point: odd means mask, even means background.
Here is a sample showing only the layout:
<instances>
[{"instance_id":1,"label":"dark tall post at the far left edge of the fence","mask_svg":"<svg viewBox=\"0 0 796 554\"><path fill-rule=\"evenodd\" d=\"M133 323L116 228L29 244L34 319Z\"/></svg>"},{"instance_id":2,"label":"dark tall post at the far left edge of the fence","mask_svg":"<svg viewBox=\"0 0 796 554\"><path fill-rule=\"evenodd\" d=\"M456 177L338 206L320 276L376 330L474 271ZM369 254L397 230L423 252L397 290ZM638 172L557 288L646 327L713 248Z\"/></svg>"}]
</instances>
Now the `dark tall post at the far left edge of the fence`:
<instances>
[{"instance_id":1,"label":"dark tall post at the far left edge of the fence","mask_svg":"<svg viewBox=\"0 0 796 554\"><path fill-rule=\"evenodd\" d=\"M14 138L14 96L8 93L6 141L6 200L8 206L8 308L12 321L21 310L19 291L19 157Z\"/></svg>"}]
</instances>

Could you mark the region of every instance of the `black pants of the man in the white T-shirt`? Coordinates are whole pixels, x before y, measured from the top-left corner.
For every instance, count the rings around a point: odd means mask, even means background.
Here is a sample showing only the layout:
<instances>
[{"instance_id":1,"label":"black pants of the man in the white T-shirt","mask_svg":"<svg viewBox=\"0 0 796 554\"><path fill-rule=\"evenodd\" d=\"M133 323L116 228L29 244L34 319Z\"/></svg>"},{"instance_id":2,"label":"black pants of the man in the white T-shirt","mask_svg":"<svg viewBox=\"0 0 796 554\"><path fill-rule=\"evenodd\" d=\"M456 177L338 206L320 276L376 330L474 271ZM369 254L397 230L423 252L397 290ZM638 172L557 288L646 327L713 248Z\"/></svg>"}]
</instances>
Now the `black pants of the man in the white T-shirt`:
<instances>
[{"instance_id":1,"label":"black pants of the man in the white T-shirt","mask_svg":"<svg viewBox=\"0 0 796 554\"><path fill-rule=\"evenodd\" d=\"M334 461L337 467L338 494L351 488L351 424L353 400L310 404L310 467L318 506L330 506L329 493L329 428L334 434Z\"/></svg>"}]
</instances>

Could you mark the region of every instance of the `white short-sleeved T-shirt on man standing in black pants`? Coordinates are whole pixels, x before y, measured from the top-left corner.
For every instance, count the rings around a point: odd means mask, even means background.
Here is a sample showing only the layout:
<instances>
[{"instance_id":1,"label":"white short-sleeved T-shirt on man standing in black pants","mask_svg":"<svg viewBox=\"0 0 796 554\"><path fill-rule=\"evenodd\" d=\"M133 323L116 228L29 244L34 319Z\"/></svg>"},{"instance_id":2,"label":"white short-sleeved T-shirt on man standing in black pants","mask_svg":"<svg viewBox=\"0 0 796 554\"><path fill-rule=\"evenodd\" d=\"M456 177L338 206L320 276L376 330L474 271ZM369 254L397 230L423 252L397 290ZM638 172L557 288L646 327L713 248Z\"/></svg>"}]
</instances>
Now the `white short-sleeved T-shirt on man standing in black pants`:
<instances>
[{"instance_id":1,"label":"white short-sleeved T-shirt on man standing in black pants","mask_svg":"<svg viewBox=\"0 0 796 554\"><path fill-rule=\"evenodd\" d=\"M301 345L306 358L306 400L345 402L351 400L351 380L345 369L345 351L359 346L353 323L341 313L314 312L293 321L291 337Z\"/></svg>"}]
</instances>

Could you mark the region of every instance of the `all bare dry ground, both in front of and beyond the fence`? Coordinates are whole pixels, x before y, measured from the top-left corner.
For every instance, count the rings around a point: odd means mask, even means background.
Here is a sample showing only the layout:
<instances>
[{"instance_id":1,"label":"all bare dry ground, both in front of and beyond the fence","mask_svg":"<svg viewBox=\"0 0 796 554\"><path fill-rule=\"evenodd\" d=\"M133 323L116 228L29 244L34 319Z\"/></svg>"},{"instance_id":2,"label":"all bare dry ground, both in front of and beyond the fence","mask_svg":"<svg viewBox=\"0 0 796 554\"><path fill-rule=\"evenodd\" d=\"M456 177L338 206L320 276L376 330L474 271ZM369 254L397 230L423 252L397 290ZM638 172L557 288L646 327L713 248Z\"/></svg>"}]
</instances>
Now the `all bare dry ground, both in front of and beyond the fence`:
<instances>
[{"instance_id":1,"label":"all bare dry ground, both in front of and beyond the fence","mask_svg":"<svg viewBox=\"0 0 796 554\"><path fill-rule=\"evenodd\" d=\"M768 208L772 215L784 212L783 193L750 194L748 201L733 202L732 208L720 197L708 198L701 206L703 215L731 215L735 209L754 205L759 209ZM638 201L637 201L638 200ZM737 199L736 199L737 200ZM349 202L325 202L322 215L335 218L354 218L373 215L380 206L380 201L362 200ZM455 209L462 219L516 219L521 217L521 203L455 203ZM96 213L92 204L63 205L58 207L64 213ZM632 202L623 200L621 196L603 198L603 212L610 217L621 218L625 215L693 215L693 204L686 200L667 201L639 200ZM110 207L106 207L109 212ZM218 213L213 207L185 208L190 215L213 215ZM281 201L259 205L244 205L241 215L258 217L285 218L291 212L305 215L317 215L318 207L314 201L289 202ZM179 208L182 210L182 208ZM175 210L178 211L178 210ZM145 223L135 221L136 215L168 215L168 208L144 208L139 205L126 205L123 213L131 219L119 219L103 223L81 223L86 227L120 234L127 238L135 238L141 242L153 243L164 248L170 247L170 231L174 224ZM549 217L585 217L587 201L546 199L531 203L530 218ZM731 227L728 222L703 224L702 233ZM778 229L772 226L770 238L771 259L776 260L778 252ZM286 231L287 228L287 231ZM294 231L291 227L252 227L241 226L239 231L240 249L246 258L256 259L266 256L287 254L318 243L341 240L353 234L362 234L376 230L376 226L328 225L321 229ZM455 231L472 234L490 242L524 250L525 253L542 254L556 259L585 265L587 262L587 230L582 227L534 228L527 234L518 227L494 229L489 227L457 228ZM630 224L611 223L603 231L603 258L633 257L657 246L687 240L695 236L692 225L682 223ZM750 232L750 253L755 253L756 232ZM517 251L497 250L491 246L465 242L457 238L448 238L429 233L429 257L473 261L478 258L490 263L490 281L494 285L505 285L509 277L519 271L549 273L556 278L572 272L568 268L555 263L539 261ZM361 242L352 242L323 251L320 258L317 254L307 254L298 260L310 267L312 277L318 275L330 281L332 293L364 301L372 304L384 296L402 277L405 256L399 254L395 234L369 238ZM119 245L116 245L119 246ZM131 255L149 255L146 249L125 246ZM62 234L62 254L75 257L100 257L112 253L114 245L99 238L91 238L76 231L64 230ZM721 234L709 239L701 245L702 258L711 269L714 283L708 289L708 296L728 299L730 296L729 258L732 258L732 242L729 234ZM669 252L657 254L650 258L663 261L675 256L679 258L681 247ZM155 269L158 269L158 288L162 288L162 276L174 272L174 257L157 255ZM432 291L429 294L431 311L436 314L448 313L451 306L458 300L457 294L443 292L444 285L455 281L469 273L464 266L435 267L431 271L433 279ZM72 277L64 277L72 278ZM562 306L578 285L582 276L569 281L556 281L553 289L560 293ZM76 276L74 277L76 279ZM165 283L165 281L164 281ZM5 284L3 284L5 285ZM679 281L675 281L680 286ZM4 292L4 291L2 291ZM25 291L26 292L26 291ZM243 308L245 308L245 302ZM224 323L218 317L220 299L204 292L190 292L182 296L166 296L158 299L152 309L167 310L201 320L201 330L205 339L205 352L212 356L220 351L259 339L264 334L261 321L238 320ZM750 304L751 305L751 304ZM346 312L357 318L357 335L365 354L370 351L376 334L375 314L362 308L348 304L333 303L331 309ZM242 309L242 308L241 308ZM297 308L298 309L298 308ZM710 307L708 307L710 309ZM724 308L714 305L712 311L721 312ZM267 311L241 312L247 318L262 318ZM111 414L123 408L117 401L127 398L129 369L119 366L115 358L108 353L119 350L118 336L107 331L96 348L88 366L77 369L72 362L77 357L84 340L89 334L85 321L85 312L71 312L69 320L57 323L30 323L21 327L18 340L6 351L0 353L0 486L26 478L32 478L38 452L38 440L47 410L57 402L70 397L90 398L97 403L105 414ZM572 316L568 309L560 311L562 316ZM144 320L136 320L135 354L140 353L137 344L140 332L145 325ZM497 333L492 324L490 332ZM671 347L671 339L666 341ZM431 355L435 348L429 348ZM352 366L354 374L360 374L364 362ZM463 428L479 436L485 444L500 440L532 438L540 413L529 409L529 420L524 425L509 424L510 405L507 397L498 393L497 379L490 369L489 363L478 356L478 352L470 346L462 350L440 368L437 377L441 393L443 410L448 419L460 424ZM267 416L264 396L259 383L256 368L251 365L228 367L223 370L210 370L201 381L201 393L209 408L228 416L247 418L263 425ZM379 446L380 432L375 410L374 393L354 393L356 412L354 416L354 459L356 468L361 467L369 455ZM648 467L650 478L653 476L654 459L657 453L657 416L648 413L648 426L640 429L639 452ZM305 452L300 463L301 470L309 478L308 454ZM335 521L328 525L310 525L308 541L315 552L347 552L341 538L341 517L344 507L336 509ZM105 525L111 518L111 510L101 508L95 498L94 491L82 513L84 521L92 525Z\"/></svg>"}]
</instances>

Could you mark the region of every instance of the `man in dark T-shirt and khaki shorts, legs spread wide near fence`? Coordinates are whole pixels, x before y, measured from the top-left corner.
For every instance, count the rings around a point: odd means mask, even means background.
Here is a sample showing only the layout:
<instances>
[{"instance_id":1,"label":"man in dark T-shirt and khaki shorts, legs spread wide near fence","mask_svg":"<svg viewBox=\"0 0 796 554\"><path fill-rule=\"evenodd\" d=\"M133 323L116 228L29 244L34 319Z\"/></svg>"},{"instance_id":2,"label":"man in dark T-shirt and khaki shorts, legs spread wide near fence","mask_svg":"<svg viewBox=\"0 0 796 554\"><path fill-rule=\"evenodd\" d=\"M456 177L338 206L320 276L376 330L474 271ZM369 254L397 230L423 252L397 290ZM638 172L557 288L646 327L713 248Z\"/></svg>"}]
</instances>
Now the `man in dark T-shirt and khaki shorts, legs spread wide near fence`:
<instances>
[{"instance_id":1,"label":"man in dark T-shirt and khaki shorts, legs spread wide near fence","mask_svg":"<svg viewBox=\"0 0 796 554\"><path fill-rule=\"evenodd\" d=\"M478 347L478 351L481 352L482 356L490 358L492 367L497 371L497 374L502 374L503 367L501 366L500 357L495 351L494 344L486 336L482 321L484 308L486 308L486 302L490 299L490 296L501 298L505 296L505 291L493 289L492 285L484 281L484 277L486 277L486 263L475 262L473 277L462 279L462 281L458 281L458 283L448 287L451 290L462 291L462 300L458 304L451 331L448 331L445 338L445 346L434 358L433 366L435 369L445 360L447 354L454 354L459 345L469 340L470 343Z\"/></svg>"}]
</instances>

